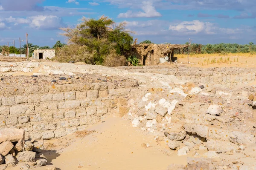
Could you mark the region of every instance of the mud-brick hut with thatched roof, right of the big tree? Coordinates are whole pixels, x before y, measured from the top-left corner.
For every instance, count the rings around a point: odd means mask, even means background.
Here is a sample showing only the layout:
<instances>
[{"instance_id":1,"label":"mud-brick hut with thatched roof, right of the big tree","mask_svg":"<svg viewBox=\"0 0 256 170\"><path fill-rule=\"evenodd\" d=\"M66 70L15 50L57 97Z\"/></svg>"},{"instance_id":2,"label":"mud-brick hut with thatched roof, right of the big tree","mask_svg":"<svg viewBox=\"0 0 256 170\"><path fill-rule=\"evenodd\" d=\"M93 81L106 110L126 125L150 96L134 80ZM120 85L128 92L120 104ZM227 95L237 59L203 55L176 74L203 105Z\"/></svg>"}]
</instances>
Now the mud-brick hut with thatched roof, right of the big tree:
<instances>
[{"instance_id":1,"label":"mud-brick hut with thatched roof, right of the big tree","mask_svg":"<svg viewBox=\"0 0 256 170\"><path fill-rule=\"evenodd\" d=\"M140 63L148 65L157 65L160 63L160 58L169 57L167 62L175 61L175 49L186 48L187 45L182 44L135 44L132 46L133 54L139 58Z\"/></svg>"}]
</instances>

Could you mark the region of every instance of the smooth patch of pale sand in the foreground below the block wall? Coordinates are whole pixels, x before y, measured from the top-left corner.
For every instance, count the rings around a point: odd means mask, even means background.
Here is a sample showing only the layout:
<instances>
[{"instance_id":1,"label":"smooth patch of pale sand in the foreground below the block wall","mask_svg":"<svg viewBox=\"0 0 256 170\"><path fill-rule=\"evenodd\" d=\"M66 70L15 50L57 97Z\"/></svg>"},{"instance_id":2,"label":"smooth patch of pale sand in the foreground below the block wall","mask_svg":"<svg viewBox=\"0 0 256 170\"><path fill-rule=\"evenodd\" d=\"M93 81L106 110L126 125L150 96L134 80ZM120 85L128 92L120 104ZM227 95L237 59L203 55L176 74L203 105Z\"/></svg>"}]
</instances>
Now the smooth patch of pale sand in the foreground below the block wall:
<instances>
[{"instance_id":1,"label":"smooth patch of pale sand in the foreground below the block wall","mask_svg":"<svg viewBox=\"0 0 256 170\"><path fill-rule=\"evenodd\" d=\"M87 130L95 132L47 141L52 151L44 155L50 164L58 170L166 170L169 164L186 165L186 156L178 157L163 141L158 145L154 135L138 131L122 118L106 118ZM150 147L142 147L143 143Z\"/></svg>"}]
</instances>

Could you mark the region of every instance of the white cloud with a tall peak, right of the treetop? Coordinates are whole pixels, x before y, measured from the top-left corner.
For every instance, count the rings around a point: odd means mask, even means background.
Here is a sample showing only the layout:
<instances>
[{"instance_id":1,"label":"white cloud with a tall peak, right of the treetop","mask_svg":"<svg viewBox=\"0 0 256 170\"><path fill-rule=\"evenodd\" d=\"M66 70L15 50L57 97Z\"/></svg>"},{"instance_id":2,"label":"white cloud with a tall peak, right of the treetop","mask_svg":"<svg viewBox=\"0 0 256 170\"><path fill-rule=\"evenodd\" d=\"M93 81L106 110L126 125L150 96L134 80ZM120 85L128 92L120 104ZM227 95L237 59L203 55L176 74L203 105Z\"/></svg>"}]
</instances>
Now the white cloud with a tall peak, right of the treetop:
<instances>
[{"instance_id":1,"label":"white cloud with a tall peak, right of the treetop","mask_svg":"<svg viewBox=\"0 0 256 170\"><path fill-rule=\"evenodd\" d=\"M127 11L125 13L120 13L118 15L119 18L133 18L133 17L161 17L162 15L156 11L155 7L153 6L153 3L143 1L143 6L141 9L143 12L132 12Z\"/></svg>"}]
</instances>

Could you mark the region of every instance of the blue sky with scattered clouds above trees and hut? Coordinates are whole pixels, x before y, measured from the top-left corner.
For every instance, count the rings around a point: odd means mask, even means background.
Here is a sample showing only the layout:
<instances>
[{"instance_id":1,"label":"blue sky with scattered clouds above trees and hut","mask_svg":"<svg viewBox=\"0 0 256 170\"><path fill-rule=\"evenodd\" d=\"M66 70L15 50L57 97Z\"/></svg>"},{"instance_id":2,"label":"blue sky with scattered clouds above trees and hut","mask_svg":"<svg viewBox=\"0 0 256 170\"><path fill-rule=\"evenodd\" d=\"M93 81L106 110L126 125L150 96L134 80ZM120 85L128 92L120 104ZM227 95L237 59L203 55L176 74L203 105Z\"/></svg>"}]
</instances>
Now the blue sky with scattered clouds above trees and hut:
<instances>
[{"instance_id":1,"label":"blue sky with scattered clouds above trees and hut","mask_svg":"<svg viewBox=\"0 0 256 170\"><path fill-rule=\"evenodd\" d=\"M103 14L154 43L256 43L255 0L0 0L0 45L66 42L60 27Z\"/></svg>"}]
</instances>

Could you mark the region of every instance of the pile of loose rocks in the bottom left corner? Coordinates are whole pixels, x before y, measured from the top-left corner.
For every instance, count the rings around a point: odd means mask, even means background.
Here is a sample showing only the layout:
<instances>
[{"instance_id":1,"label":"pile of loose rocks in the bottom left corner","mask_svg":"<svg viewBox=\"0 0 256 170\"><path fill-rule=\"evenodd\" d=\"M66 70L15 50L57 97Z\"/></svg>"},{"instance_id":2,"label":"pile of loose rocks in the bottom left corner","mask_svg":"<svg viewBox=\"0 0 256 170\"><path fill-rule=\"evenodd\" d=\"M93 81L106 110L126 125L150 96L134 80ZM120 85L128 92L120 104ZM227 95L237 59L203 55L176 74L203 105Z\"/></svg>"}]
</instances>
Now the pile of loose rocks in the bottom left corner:
<instances>
[{"instance_id":1,"label":"pile of loose rocks in the bottom left corner","mask_svg":"<svg viewBox=\"0 0 256 170\"><path fill-rule=\"evenodd\" d=\"M24 140L25 131L21 129L0 129L0 170L15 167L30 170L47 164L44 155L35 152L35 140Z\"/></svg>"}]
</instances>

